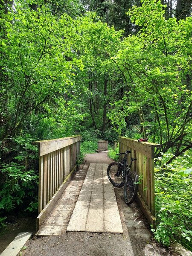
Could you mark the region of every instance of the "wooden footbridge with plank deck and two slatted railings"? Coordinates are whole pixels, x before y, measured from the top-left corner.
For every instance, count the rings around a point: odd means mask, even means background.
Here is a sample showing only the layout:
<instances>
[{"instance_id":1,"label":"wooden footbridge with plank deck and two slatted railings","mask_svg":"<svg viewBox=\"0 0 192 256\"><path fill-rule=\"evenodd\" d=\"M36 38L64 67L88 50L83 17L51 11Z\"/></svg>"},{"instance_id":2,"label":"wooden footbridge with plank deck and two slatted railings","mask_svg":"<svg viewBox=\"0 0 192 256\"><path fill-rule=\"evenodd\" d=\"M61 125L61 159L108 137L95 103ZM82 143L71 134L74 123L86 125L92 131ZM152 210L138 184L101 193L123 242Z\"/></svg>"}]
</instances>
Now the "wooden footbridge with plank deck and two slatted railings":
<instances>
[{"instance_id":1,"label":"wooden footbridge with plank deck and two slatted railings","mask_svg":"<svg viewBox=\"0 0 192 256\"><path fill-rule=\"evenodd\" d=\"M106 175L108 164L91 163L85 180L84 177L80 179L83 184L78 179L82 173L77 172L72 179L80 153L80 140L81 136L77 135L34 142L39 150L37 235L59 235L66 230L123 232L114 189ZM137 201L148 223L153 226L154 150L158 146L119 137L119 151L131 150L128 157L137 158L132 167L141 181ZM67 187L70 181L72 186ZM76 205L70 222L68 204Z\"/></svg>"}]
</instances>

